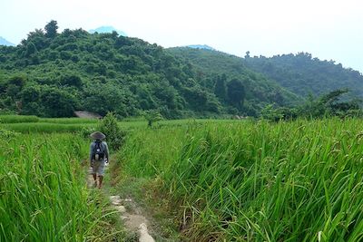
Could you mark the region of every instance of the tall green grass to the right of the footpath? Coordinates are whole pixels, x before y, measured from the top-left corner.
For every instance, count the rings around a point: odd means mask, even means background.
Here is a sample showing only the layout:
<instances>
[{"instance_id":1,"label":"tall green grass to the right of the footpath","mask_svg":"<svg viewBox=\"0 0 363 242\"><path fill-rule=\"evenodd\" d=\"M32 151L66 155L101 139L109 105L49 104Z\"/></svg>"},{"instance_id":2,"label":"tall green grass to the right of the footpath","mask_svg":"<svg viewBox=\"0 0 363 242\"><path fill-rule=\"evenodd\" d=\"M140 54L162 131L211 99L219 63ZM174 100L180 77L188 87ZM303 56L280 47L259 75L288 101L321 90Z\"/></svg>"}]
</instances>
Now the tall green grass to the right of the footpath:
<instances>
[{"instance_id":1,"label":"tall green grass to the right of the footpath","mask_svg":"<svg viewBox=\"0 0 363 242\"><path fill-rule=\"evenodd\" d=\"M130 173L162 178L188 239L363 239L363 121L178 129L135 133L123 156Z\"/></svg>"}]
</instances>

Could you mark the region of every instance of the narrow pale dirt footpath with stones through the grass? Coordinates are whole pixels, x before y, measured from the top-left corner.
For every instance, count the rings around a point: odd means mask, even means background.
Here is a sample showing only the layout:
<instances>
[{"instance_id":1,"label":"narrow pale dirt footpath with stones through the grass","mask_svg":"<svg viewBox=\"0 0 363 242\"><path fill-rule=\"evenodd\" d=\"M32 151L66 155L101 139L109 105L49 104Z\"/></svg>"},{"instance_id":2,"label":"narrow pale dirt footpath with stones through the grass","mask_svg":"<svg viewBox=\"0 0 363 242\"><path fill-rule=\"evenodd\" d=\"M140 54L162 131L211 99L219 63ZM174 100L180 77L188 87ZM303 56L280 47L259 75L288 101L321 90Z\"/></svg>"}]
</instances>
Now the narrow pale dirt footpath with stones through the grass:
<instances>
[{"instance_id":1,"label":"narrow pale dirt footpath with stones through the grass","mask_svg":"<svg viewBox=\"0 0 363 242\"><path fill-rule=\"evenodd\" d=\"M107 176L111 176L108 172L109 166L105 167L105 179L110 179ZM142 208L138 206L132 198L121 198L119 195L110 194L110 189L107 188L108 183L103 182L103 188L101 191L105 197L110 199L111 206L118 211L119 218L123 221L125 230L129 234L136 234L137 240L140 242L152 242L155 239L149 234L148 227L151 226L150 219L144 215ZM88 169L87 175L87 187L88 189L98 189L94 185L92 168Z\"/></svg>"}]
</instances>

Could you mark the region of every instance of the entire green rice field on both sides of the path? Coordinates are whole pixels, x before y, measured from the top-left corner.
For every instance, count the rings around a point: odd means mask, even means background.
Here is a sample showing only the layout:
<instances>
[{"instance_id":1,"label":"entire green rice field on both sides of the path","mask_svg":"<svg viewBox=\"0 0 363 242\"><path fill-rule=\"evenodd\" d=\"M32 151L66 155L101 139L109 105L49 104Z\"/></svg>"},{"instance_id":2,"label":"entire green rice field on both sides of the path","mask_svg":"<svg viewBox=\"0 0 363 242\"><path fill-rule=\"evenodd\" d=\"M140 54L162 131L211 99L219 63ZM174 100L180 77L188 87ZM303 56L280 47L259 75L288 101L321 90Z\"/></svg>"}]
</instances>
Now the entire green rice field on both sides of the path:
<instances>
[{"instance_id":1,"label":"entire green rice field on both sides of the path","mask_svg":"<svg viewBox=\"0 0 363 242\"><path fill-rule=\"evenodd\" d=\"M45 128L14 133L15 123ZM100 231L110 225L112 211L86 189L81 162L89 145L82 129L96 125L78 119L2 122L0 241L110 238ZM114 169L158 181L152 189L172 204L182 241L363 239L359 119L119 125L127 136Z\"/></svg>"}]
</instances>

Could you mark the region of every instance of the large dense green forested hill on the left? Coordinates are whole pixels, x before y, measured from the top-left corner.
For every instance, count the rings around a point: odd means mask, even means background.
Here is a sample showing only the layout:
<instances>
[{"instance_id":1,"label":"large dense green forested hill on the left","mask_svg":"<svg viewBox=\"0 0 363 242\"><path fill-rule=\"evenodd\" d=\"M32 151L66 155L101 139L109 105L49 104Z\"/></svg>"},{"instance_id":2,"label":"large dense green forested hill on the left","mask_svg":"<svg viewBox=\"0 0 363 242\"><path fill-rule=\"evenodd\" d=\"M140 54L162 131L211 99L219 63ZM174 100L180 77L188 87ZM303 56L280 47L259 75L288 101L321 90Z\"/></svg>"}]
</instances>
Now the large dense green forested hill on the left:
<instances>
[{"instance_id":1,"label":"large dense green forested hill on the left","mask_svg":"<svg viewBox=\"0 0 363 242\"><path fill-rule=\"evenodd\" d=\"M117 34L37 30L17 47L0 48L0 78L2 109L21 102L21 113L40 116L159 109L176 118L223 108L185 63L156 44Z\"/></svg>"}]
</instances>

